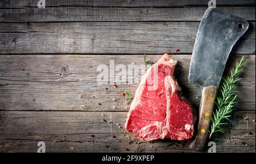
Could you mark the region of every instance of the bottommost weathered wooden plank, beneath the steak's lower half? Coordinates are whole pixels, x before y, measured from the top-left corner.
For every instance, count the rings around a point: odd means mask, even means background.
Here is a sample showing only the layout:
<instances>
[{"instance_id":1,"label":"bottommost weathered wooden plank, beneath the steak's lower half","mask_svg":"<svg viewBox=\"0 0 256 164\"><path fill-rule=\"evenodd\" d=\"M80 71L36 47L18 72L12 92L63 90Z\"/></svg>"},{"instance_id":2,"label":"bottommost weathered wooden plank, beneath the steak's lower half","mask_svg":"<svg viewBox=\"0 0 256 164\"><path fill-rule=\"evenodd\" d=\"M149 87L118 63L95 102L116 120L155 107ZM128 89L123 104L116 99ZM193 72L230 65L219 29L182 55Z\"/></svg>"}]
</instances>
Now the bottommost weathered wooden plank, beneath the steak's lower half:
<instances>
[{"instance_id":1,"label":"bottommost weathered wooden plank, beneath the steak's lower half","mask_svg":"<svg viewBox=\"0 0 256 164\"><path fill-rule=\"evenodd\" d=\"M126 112L0 111L0 114L0 152L36 152L39 141L46 143L46 152L192 152L188 141L138 141L123 128ZM216 143L217 152L255 152L255 111L235 112L232 120L229 131Z\"/></svg>"}]
</instances>

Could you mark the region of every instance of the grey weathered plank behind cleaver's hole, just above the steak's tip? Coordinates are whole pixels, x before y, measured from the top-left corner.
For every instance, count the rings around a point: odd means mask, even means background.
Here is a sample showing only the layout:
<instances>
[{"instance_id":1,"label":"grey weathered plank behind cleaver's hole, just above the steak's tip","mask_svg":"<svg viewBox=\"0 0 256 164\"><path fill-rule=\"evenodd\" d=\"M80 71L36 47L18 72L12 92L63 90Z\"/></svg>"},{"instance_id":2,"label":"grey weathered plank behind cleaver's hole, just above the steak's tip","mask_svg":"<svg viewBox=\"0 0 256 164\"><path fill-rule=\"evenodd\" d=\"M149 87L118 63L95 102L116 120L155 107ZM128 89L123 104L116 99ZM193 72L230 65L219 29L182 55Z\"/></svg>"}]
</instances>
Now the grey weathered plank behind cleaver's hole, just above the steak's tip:
<instances>
[{"instance_id":1,"label":"grey weathered plank behind cleaver's hole, just above the steak's tip","mask_svg":"<svg viewBox=\"0 0 256 164\"><path fill-rule=\"evenodd\" d=\"M1 54L192 53L199 22L2 23ZM150 45L150 48L148 48ZM232 54L255 54L255 22Z\"/></svg>"}]
</instances>

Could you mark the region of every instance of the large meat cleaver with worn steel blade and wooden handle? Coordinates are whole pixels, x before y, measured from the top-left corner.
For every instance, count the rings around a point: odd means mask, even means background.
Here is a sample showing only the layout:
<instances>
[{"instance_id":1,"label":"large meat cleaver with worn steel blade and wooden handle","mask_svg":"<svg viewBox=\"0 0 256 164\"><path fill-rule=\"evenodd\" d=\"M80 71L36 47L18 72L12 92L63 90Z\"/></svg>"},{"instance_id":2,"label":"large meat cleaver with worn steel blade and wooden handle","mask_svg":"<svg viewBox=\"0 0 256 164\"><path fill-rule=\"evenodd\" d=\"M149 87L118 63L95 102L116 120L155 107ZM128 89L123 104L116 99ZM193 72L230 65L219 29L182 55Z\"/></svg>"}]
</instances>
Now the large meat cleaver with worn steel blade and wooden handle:
<instances>
[{"instance_id":1,"label":"large meat cleaver with worn steel blade and wooden handle","mask_svg":"<svg viewBox=\"0 0 256 164\"><path fill-rule=\"evenodd\" d=\"M193 150L204 149L208 138L210 118L229 53L246 32L249 23L217 8L208 8L197 31L189 67L188 81L202 89L199 124L195 139L189 145Z\"/></svg>"}]
</instances>

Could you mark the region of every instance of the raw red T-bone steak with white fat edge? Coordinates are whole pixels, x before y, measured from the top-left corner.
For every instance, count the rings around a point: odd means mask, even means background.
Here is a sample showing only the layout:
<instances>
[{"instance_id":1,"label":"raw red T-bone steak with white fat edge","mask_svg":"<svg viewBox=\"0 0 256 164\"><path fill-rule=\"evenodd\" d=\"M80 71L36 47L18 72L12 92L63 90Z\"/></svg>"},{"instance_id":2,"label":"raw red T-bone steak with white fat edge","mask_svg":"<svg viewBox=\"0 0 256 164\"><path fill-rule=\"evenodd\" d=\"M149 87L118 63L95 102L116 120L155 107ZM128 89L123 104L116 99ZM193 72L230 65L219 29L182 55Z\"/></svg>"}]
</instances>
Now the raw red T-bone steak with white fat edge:
<instances>
[{"instance_id":1,"label":"raw red T-bone steak with white fat edge","mask_svg":"<svg viewBox=\"0 0 256 164\"><path fill-rule=\"evenodd\" d=\"M142 77L125 124L140 140L185 140L193 136L195 115L173 76L176 64L164 54Z\"/></svg>"}]
</instances>

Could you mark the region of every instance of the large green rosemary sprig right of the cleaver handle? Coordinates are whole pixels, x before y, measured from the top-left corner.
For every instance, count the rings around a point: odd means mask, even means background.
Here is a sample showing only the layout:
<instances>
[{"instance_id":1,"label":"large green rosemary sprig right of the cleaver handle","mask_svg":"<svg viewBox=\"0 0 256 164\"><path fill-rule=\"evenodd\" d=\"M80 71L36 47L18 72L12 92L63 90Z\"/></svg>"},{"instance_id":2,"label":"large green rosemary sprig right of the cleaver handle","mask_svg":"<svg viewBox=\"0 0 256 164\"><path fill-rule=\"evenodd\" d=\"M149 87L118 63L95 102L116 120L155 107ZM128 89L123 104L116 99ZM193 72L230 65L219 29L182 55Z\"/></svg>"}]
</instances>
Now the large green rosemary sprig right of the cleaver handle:
<instances>
[{"instance_id":1,"label":"large green rosemary sprig right of the cleaver handle","mask_svg":"<svg viewBox=\"0 0 256 164\"><path fill-rule=\"evenodd\" d=\"M237 103L236 88L240 86L238 83L240 72L242 70L245 59L242 59L237 62L236 67L234 67L230 72L231 75L225 78L222 78L222 84L218 90L218 96L216 100L216 110L213 111L213 116L211 118L211 130L210 137L213 133L221 132L224 133L222 126L231 122L229 119L233 111L233 106Z\"/></svg>"}]
</instances>

